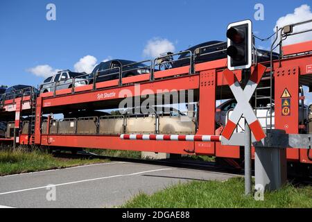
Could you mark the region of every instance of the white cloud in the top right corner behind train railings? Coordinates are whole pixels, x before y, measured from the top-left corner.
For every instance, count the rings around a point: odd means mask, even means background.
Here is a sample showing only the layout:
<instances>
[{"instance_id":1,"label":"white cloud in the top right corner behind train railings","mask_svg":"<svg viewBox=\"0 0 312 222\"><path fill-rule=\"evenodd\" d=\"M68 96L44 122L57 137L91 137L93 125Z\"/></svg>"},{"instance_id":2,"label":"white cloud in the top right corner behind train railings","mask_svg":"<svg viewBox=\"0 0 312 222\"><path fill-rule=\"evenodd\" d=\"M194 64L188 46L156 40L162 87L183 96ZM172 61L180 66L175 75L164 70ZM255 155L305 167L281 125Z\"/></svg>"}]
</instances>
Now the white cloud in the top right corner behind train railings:
<instances>
[{"instance_id":1,"label":"white cloud in the top right corner behind train railings","mask_svg":"<svg viewBox=\"0 0 312 222\"><path fill-rule=\"evenodd\" d=\"M275 26L278 26L279 28L284 27L288 24L294 24L297 22L304 22L306 20L312 19L312 12L310 6L304 4L298 8L295 8L294 12L288 15L285 15L284 17L280 17ZM311 28L311 23L296 26L294 28L294 32L298 31L304 31L306 29ZM275 29L274 29L275 31ZM287 37L287 40L284 41L284 45L286 44L294 44L297 42L304 42L312 40L311 32L302 33L299 35L289 36Z\"/></svg>"}]
</instances>

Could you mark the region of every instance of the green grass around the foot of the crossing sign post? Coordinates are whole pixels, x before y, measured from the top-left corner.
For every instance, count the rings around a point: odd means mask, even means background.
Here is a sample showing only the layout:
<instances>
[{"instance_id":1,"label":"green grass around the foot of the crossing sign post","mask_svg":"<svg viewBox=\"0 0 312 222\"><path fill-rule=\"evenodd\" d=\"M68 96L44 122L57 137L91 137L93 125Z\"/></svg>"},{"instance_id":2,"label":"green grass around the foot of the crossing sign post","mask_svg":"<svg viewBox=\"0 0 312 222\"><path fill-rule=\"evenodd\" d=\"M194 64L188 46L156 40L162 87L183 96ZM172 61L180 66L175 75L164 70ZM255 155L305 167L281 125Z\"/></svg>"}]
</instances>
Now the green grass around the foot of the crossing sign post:
<instances>
[{"instance_id":1,"label":"green grass around the foot of the crossing sign post","mask_svg":"<svg viewBox=\"0 0 312 222\"><path fill-rule=\"evenodd\" d=\"M264 201L256 201L244 194L243 178L225 182L189 182L159 191L151 196L139 194L121 207L129 208L245 208L245 207L312 207L312 187L286 185L278 191L268 192Z\"/></svg>"}]
</instances>

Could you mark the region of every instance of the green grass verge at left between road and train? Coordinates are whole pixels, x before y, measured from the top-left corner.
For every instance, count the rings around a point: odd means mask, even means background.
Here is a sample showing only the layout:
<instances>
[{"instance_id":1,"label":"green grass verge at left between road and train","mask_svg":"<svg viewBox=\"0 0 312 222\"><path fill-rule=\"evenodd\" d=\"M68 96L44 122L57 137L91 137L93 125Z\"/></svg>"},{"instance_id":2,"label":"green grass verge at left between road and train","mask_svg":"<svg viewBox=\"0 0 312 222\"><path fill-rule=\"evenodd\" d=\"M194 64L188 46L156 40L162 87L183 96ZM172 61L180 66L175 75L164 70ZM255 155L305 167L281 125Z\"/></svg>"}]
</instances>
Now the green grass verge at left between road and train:
<instances>
[{"instance_id":1,"label":"green grass verge at left between road and train","mask_svg":"<svg viewBox=\"0 0 312 222\"><path fill-rule=\"evenodd\" d=\"M37 148L1 148L0 149L0 176L15 173L26 173L48 169L62 169L85 164L107 162L98 159L67 159L53 157L52 154Z\"/></svg>"}]
</instances>

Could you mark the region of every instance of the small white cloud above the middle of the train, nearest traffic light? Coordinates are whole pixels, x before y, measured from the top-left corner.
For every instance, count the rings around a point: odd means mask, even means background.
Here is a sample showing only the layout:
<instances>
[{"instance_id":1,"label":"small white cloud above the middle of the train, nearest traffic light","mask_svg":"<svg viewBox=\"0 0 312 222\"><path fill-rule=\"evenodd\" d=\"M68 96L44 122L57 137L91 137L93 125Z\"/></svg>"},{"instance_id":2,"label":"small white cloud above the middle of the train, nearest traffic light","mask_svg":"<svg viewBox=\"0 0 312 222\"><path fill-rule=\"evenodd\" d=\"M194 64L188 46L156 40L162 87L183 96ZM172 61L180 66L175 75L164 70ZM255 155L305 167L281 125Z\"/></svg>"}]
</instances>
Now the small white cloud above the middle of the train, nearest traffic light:
<instances>
[{"instance_id":1,"label":"small white cloud above the middle of the train, nearest traffic light","mask_svg":"<svg viewBox=\"0 0 312 222\"><path fill-rule=\"evenodd\" d=\"M168 51L174 52L175 45L167 39L155 37L147 42L143 54L145 57L155 58Z\"/></svg>"}]
</instances>

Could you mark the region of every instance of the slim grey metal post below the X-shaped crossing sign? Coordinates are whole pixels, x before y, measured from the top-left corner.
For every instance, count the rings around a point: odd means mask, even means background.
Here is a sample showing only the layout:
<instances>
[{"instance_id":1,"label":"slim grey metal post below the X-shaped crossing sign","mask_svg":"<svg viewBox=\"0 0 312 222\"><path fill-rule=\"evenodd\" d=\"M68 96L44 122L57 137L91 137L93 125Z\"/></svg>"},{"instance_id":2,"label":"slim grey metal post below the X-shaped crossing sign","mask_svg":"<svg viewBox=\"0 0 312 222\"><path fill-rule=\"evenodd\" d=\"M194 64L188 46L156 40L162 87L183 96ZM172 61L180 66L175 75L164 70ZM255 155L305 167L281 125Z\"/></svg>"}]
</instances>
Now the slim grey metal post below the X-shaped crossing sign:
<instances>
[{"instance_id":1,"label":"slim grey metal post below the X-shaped crossing sign","mask_svg":"<svg viewBox=\"0 0 312 222\"><path fill-rule=\"evenodd\" d=\"M251 131L245 122L245 195L250 195L252 190L252 160L251 160Z\"/></svg>"}]
</instances>

